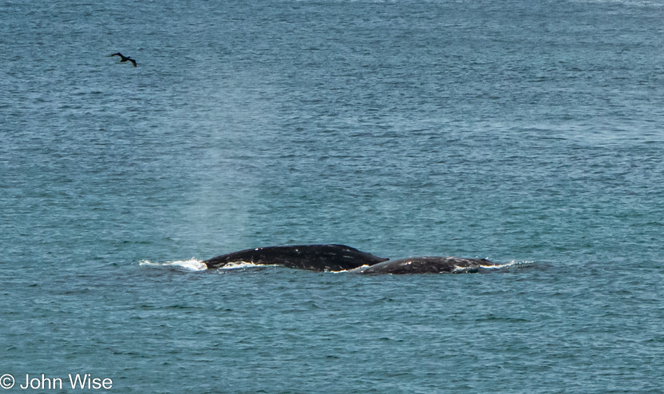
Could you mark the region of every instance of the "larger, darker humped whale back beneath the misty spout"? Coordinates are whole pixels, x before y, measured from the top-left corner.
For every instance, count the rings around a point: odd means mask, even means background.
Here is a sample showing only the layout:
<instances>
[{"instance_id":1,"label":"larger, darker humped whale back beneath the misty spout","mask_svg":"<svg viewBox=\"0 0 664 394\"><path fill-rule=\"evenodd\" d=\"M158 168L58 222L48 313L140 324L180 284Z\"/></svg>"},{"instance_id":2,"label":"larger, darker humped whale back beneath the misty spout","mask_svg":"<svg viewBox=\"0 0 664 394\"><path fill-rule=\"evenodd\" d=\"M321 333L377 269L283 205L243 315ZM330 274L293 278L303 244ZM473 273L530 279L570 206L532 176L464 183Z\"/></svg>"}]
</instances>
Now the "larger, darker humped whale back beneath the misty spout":
<instances>
[{"instance_id":1,"label":"larger, darker humped whale back beneath the misty spout","mask_svg":"<svg viewBox=\"0 0 664 394\"><path fill-rule=\"evenodd\" d=\"M230 263L250 262L255 265L281 265L310 271L345 271L363 265L373 266L387 261L346 245L290 245L245 249L219 255L203 262L208 269L222 268Z\"/></svg>"}]
</instances>

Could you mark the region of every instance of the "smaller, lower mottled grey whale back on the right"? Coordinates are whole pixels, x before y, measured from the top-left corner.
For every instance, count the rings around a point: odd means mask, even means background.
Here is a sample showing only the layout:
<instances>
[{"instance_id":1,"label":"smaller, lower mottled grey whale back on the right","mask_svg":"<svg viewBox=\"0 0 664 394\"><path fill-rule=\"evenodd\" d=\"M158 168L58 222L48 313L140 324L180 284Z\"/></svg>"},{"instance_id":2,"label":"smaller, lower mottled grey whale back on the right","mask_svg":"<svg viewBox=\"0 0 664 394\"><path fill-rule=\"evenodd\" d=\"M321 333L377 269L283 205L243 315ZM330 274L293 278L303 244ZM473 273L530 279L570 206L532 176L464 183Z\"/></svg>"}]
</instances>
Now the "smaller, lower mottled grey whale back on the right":
<instances>
[{"instance_id":1,"label":"smaller, lower mottled grey whale back on the right","mask_svg":"<svg viewBox=\"0 0 664 394\"><path fill-rule=\"evenodd\" d=\"M416 257L388 260L370 267L359 267L354 270L358 274L459 274L462 272L478 272L482 267L497 266L486 259L454 258L454 257Z\"/></svg>"}]
</instances>

